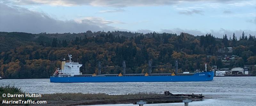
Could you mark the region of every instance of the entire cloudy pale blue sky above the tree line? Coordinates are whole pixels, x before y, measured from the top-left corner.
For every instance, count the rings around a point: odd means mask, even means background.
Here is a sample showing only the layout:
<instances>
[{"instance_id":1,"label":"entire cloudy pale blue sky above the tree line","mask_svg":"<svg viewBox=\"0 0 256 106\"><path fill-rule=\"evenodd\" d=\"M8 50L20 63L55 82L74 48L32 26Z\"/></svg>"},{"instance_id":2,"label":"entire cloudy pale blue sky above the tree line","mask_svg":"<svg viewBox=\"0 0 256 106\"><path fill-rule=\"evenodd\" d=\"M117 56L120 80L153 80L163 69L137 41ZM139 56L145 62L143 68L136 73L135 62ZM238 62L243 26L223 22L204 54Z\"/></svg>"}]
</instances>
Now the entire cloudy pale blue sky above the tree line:
<instances>
[{"instance_id":1,"label":"entire cloudy pale blue sky above the tree line","mask_svg":"<svg viewBox=\"0 0 256 106\"><path fill-rule=\"evenodd\" d=\"M0 0L0 31L133 32L256 35L256 0L7 1Z\"/></svg>"}]
</instances>

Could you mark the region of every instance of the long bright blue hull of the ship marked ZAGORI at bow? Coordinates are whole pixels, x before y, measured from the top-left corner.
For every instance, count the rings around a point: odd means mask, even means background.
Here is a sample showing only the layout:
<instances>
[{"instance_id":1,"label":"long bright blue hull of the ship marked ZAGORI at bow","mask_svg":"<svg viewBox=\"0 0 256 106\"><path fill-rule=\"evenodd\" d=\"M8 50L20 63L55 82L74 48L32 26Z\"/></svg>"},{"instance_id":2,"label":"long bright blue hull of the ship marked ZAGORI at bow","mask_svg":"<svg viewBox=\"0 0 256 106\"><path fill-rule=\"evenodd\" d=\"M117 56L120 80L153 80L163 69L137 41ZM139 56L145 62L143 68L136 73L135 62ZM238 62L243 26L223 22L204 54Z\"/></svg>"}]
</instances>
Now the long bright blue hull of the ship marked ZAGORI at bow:
<instances>
[{"instance_id":1,"label":"long bright blue hull of the ship marked ZAGORI at bow","mask_svg":"<svg viewBox=\"0 0 256 106\"><path fill-rule=\"evenodd\" d=\"M79 82L187 82L212 81L214 73L202 72L187 76L82 76L82 77L50 77L53 83Z\"/></svg>"}]
</instances>

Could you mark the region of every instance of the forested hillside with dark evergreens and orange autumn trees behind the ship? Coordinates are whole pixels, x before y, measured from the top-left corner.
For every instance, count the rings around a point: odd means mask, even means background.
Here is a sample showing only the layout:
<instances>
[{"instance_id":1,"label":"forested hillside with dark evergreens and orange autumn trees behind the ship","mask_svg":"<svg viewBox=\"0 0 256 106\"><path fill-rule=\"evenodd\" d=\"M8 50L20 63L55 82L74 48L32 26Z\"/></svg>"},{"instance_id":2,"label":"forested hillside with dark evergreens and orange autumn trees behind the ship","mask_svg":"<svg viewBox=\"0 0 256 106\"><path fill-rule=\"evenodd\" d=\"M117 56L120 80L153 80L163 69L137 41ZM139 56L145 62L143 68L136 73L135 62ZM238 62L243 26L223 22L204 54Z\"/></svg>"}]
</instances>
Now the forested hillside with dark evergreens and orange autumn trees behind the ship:
<instances>
[{"instance_id":1,"label":"forested hillside with dark evergreens and orange autumn trees behind the ship","mask_svg":"<svg viewBox=\"0 0 256 106\"><path fill-rule=\"evenodd\" d=\"M193 36L188 33L132 33L126 31L30 34L0 32L0 76L3 78L49 78L61 60L73 55L73 61L83 64L83 74L97 72L97 63L103 65L102 74L117 74L126 61L126 73L146 73L148 60L152 73L172 73L174 61L179 71L244 67L256 64L256 38L238 34L216 38L211 34ZM232 51L228 49L232 47ZM232 58L232 59L231 59ZM250 67L252 74L256 69Z\"/></svg>"}]
</instances>

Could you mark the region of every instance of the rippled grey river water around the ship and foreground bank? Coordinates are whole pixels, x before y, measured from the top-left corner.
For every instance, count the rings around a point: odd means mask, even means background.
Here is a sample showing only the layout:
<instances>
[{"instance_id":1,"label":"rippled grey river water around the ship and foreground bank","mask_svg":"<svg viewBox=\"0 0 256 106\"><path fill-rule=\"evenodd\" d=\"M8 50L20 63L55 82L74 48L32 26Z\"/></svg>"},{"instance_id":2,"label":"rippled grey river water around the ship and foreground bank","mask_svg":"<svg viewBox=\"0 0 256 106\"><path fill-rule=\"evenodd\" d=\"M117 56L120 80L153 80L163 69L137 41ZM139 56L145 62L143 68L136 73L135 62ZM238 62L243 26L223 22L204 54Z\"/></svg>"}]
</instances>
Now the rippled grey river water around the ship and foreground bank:
<instances>
[{"instance_id":1,"label":"rippled grey river water around the ship and foreground bank","mask_svg":"<svg viewBox=\"0 0 256 106\"><path fill-rule=\"evenodd\" d=\"M29 93L107 93L138 92L203 94L216 99L189 103L189 106L256 106L256 77L214 77L207 82L127 82L127 83L50 83L50 79L3 79L0 86L15 85ZM94 106L135 106L132 104ZM137 105L136 105L137 106ZM184 106L184 103L146 104L145 106Z\"/></svg>"}]
</instances>

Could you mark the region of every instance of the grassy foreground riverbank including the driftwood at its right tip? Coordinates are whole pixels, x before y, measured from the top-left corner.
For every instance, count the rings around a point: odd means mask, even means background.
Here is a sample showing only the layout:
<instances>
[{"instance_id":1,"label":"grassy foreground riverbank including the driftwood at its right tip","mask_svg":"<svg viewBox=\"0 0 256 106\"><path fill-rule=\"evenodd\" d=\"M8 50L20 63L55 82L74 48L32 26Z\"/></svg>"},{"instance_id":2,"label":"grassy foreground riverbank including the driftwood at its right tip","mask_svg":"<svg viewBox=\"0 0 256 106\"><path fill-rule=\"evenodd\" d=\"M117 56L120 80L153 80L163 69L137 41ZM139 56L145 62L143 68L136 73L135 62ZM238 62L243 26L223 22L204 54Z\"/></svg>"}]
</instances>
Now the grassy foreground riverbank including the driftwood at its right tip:
<instances>
[{"instance_id":1,"label":"grassy foreground riverbank including the driftwood at its right tip","mask_svg":"<svg viewBox=\"0 0 256 106\"><path fill-rule=\"evenodd\" d=\"M6 101L46 101L44 106L73 106L73 105L96 105L96 104L125 104L134 103L140 100L148 102L161 102L161 103L179 103L184 99L192 99L194 101L203 100L203 98L196 98L195 95L165 95L159 93L135 93L135 94L124 94L124 95L109 95L104 93L98 94L82 94L82 93L56 93L56 94L38 94L40 97L2 97L3 94L11 95L26 95L25 92L15 86L4 86L0 88L0 100ZM31 94L32 95L32 94ZM35 94L33 94L35 95ZM37 95L37 94L36 94ZM203 96L202 96L203 97ZM10 105L2 104L1 105ZM25 104L15 104L25 105ZM42 105L42 104L32 104Z\"/></svg>"}]
</instances>

